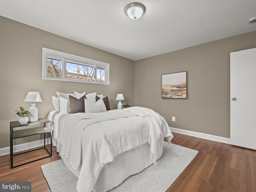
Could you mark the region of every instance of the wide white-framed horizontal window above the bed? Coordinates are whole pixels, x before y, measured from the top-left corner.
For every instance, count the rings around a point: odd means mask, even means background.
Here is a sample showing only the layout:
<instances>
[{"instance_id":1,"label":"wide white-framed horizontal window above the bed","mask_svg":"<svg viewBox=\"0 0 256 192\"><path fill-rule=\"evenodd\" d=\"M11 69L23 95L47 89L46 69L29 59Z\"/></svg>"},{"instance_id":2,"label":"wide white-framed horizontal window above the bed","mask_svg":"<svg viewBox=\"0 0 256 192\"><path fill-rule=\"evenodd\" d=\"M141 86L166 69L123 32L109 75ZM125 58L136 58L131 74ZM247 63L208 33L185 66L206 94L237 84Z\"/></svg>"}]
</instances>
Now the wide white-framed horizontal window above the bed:
<instances>
[{"instance_id":1,"label":"wide white-framed horizontal window above the bed","mask_svg":"<svg viewBox=\"0 0 256 192\"><path fill-rule=\"evenodd\" d=\"M109 64L47 48L42 53L42 78L109 85Z\"/></svg>"}]
</instances>

